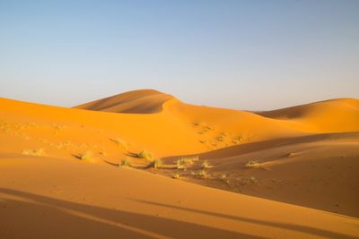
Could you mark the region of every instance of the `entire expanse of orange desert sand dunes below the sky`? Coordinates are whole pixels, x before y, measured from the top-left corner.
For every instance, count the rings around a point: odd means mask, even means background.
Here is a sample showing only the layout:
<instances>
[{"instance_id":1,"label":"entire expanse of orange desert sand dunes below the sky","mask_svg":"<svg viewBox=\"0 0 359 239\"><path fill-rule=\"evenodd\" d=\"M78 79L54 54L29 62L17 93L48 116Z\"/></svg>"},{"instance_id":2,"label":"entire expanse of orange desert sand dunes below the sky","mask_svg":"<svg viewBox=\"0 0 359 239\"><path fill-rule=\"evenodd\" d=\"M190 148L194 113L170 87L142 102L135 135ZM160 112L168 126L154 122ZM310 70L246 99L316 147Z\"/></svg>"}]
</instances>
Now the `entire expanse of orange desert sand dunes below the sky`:
<instances>
[{"instance_id":1,"label":"entire expanse of orange desert sand dunes below the sky","mask_svg":"<svg viewBox=\"0 0 359 239\"><path fill-rule=\"evenodd\" d=\"M359 237L355 98L267 112L157 90L0 98L0 141L0 238Z\"/></svg>"}]
</instances>

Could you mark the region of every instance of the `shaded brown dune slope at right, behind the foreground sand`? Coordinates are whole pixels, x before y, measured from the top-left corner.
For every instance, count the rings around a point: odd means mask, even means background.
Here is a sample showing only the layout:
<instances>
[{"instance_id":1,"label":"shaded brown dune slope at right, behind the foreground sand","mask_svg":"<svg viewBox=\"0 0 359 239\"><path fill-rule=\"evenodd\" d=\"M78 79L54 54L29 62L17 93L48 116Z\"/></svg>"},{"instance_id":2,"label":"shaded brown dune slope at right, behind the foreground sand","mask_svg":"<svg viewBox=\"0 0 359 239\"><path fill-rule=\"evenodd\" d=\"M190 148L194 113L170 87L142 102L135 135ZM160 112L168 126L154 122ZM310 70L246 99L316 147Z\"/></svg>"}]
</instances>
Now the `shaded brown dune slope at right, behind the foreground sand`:
<instances>
[{"instance_id":1,"label":"shaded brown dune slope at right, behind the foreground sand","mask_svg":"<svg viewBox=\"0 0 359 239\"><path fill-rule=\"evenodd\" d=\"M213 166L208 172L214 180L188 176L188 181L358 217L358 149L359 132L244 143L197 154ZM183 157L188 156L166 162ZM247 167L250 160L258 165Z\"/></svg>"}]
</instances>

